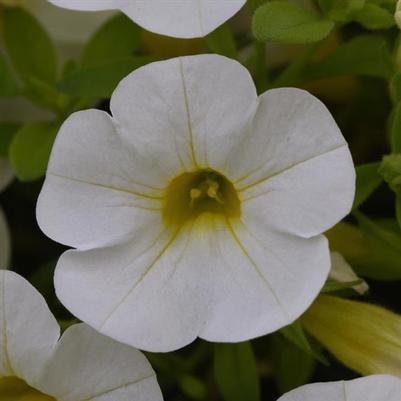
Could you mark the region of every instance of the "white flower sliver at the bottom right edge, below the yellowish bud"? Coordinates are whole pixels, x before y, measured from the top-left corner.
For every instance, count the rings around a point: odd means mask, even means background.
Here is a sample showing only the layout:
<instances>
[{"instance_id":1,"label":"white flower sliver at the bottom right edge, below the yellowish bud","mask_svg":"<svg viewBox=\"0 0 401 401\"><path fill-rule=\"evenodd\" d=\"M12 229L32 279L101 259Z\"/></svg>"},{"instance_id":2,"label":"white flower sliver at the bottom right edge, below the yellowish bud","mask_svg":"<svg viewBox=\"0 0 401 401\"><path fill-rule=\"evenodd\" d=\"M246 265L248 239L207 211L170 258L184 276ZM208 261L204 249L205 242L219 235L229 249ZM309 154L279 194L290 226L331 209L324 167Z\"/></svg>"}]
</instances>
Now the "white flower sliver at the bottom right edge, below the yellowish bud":
<instances>
[{"instance_id":1,"label":"white flower sliver at the bottom right edge, below the yellowish bud","mask_svg":"<svg viewBox=\"0 0 401 401\"><path fill-rule=\"evenodd\" d=\"M307 384L278 401L399 401L400 394L400 379L374 375L350 381Z\"/></svg>"}]
</instances>

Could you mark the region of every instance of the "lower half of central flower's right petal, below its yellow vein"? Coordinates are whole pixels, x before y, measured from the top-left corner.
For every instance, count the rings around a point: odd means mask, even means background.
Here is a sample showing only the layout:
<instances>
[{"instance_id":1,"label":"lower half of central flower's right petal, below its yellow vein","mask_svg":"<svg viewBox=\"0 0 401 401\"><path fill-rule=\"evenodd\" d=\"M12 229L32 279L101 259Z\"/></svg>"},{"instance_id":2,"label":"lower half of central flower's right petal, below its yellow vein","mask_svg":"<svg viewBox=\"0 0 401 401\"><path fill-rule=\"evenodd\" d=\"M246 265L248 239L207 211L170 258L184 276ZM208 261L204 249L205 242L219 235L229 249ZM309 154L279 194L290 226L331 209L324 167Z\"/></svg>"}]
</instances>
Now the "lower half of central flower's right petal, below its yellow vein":
<instances>
[{"instance_id":1,"label":"lower half of central flower's right petal, below its yellow vein","mask_svg":"<svg viewBox=\"0 0 401 401\"><path fill-rule=\"evenodd\" d=\"M240 191L242 218L266 229L311 238L350 212L354 192L350 152L341 146Z\"/></svg>"}]
</instances>

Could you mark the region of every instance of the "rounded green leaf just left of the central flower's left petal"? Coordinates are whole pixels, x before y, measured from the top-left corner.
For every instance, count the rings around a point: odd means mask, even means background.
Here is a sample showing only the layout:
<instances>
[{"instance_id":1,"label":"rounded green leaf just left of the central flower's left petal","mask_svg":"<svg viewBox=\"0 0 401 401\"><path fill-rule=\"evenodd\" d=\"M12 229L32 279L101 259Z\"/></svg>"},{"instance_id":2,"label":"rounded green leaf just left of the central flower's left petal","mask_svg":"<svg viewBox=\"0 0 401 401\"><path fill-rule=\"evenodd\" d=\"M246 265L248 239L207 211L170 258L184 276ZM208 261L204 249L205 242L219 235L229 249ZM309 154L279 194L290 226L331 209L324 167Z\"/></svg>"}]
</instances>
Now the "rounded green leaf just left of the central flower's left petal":
<instances>
[{"instance_id":1,"label":"rounded green leaf just left of the central flower's left petal","mask_svg":"<svg viewBox=\"0 0 401 401\"><path fill-rule=\"evenodd\" d=\"M57 131L58 125L53 122L36 122L24 125L15 134L10 161L21 181L33 181L45 174Z\"/></svg>"}]
</instances>

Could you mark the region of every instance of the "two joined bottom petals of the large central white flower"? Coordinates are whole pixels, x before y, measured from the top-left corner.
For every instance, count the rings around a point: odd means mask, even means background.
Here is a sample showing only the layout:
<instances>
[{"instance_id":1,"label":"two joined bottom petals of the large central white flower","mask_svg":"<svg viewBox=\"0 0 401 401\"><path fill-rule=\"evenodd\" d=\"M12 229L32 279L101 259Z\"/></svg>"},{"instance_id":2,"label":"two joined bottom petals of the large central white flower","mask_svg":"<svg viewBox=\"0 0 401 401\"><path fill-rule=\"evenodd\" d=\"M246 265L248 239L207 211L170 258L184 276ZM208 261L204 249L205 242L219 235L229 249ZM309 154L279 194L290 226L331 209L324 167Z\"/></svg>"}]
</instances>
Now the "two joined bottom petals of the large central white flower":
<instances>
[{"instance_id":1,"label":"two joined bottom petals of the large central white flower","mask_svg":"<svg viewBox=\"0 0 401 401\"><path fill-rule=\"evenodd\" d=\"M57 295L95 329L150 351L177 349L196 336L242 341L289 324L326 279L325 238L271 233L258 240L231 229L202 215L147 248L149 240L68 251L57 266Z\"/></svg>"}]
</instances>

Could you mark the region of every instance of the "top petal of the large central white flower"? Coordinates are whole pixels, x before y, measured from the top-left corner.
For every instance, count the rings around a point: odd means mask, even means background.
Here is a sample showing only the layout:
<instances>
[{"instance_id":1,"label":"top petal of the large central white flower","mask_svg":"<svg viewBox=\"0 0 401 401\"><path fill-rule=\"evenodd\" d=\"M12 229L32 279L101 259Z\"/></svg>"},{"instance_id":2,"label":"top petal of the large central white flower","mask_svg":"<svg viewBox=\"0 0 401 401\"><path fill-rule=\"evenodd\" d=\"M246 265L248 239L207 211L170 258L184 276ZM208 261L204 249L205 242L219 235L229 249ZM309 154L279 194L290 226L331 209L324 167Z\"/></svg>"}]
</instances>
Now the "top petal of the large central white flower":
<instances>
[{"instance_id":1,"label":"top petal of the large central white flower","mask_svg":"<svg viewBox=\"0 0 401 401\"><path fill-rule=\"evenodd\" d=\"M199 167L219 169L257 105L241 64L200 55L136 70L121 81L110 107L124 139L174 178Z\"/></svg>"}]
</instances>

